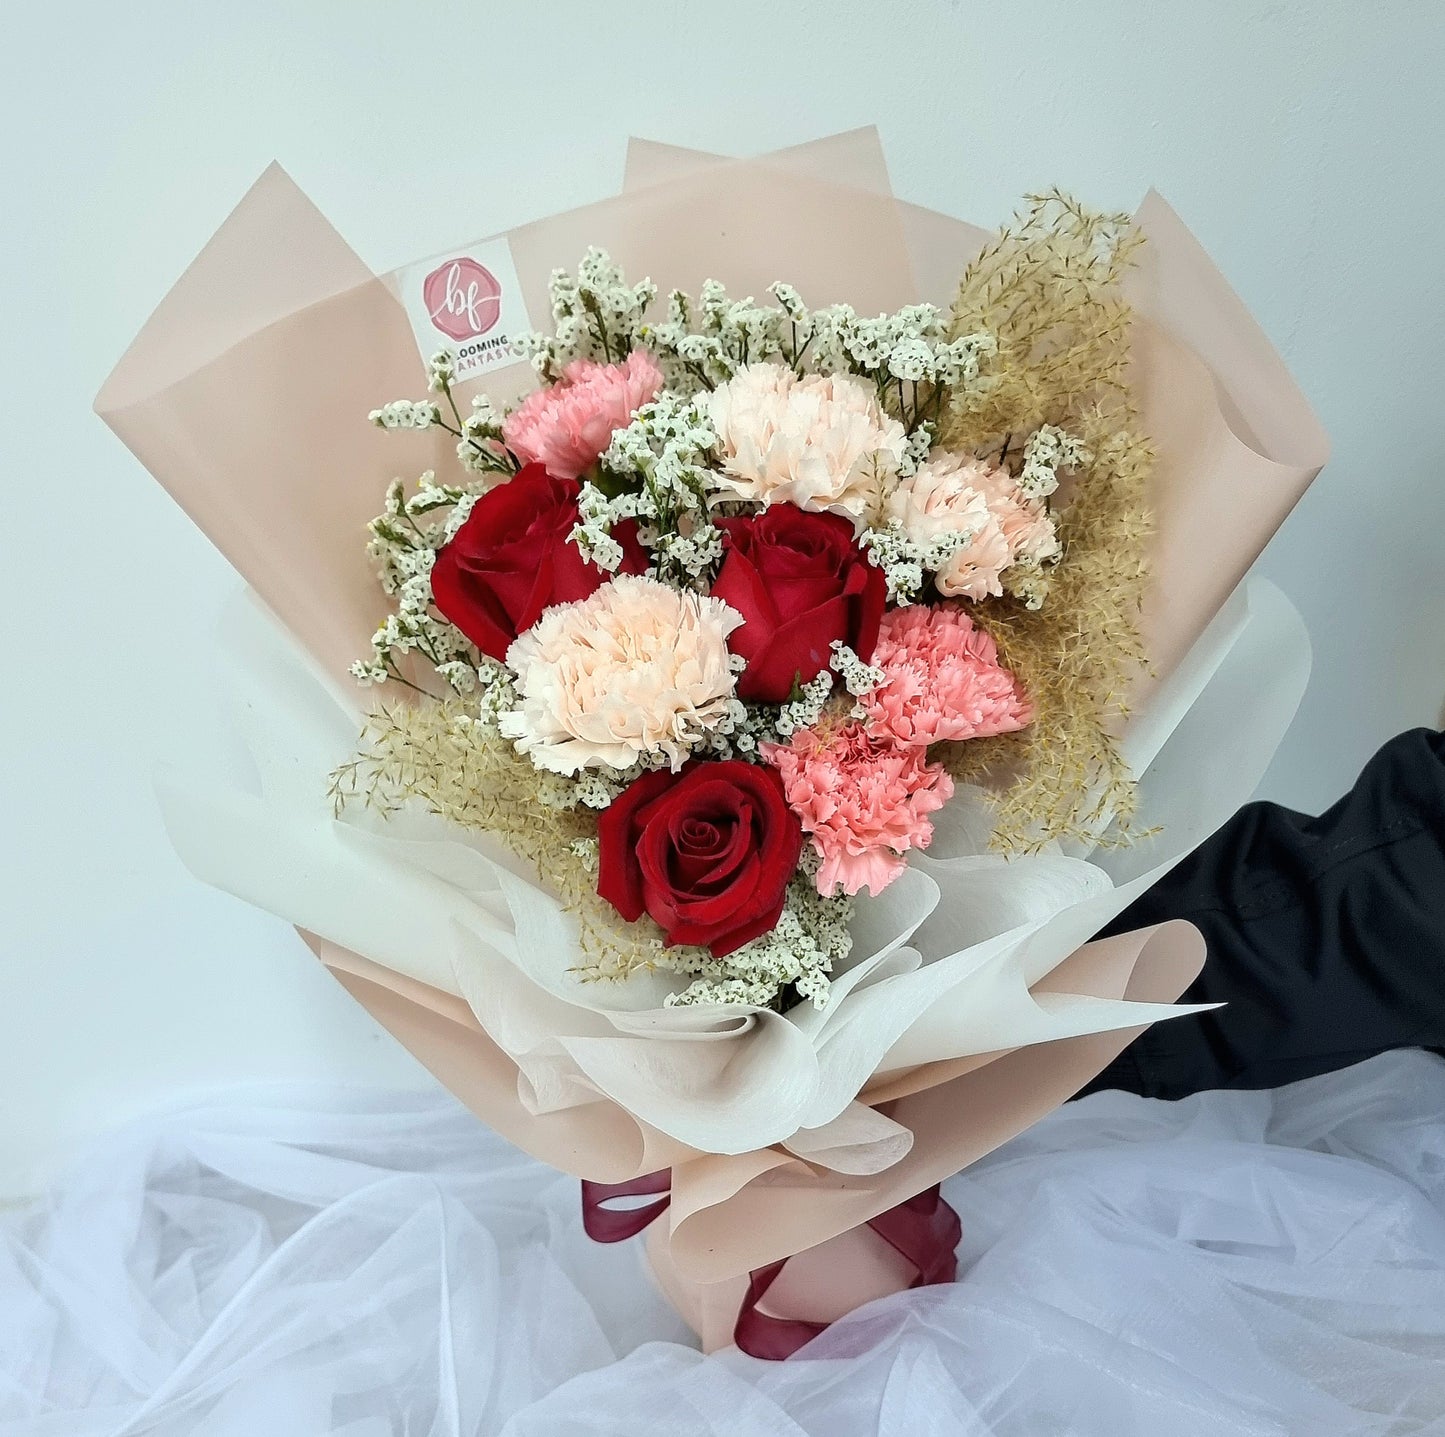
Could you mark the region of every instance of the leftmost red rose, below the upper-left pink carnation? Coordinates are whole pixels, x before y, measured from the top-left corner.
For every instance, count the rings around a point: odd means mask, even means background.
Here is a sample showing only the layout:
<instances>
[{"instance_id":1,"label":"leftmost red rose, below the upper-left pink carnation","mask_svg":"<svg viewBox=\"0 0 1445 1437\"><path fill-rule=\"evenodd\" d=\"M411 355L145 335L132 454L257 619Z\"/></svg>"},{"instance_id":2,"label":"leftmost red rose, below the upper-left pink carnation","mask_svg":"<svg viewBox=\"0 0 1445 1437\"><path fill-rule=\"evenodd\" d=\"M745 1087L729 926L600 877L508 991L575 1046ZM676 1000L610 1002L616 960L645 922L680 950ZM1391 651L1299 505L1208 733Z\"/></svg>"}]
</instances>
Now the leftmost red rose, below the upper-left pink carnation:
<instances>
[{"instance_id":1,"label":"leftmost red rose, below the upper-left pink carnation","mask_svg":"<svg viewBox=\"0 0 1445 1437\"><path fill-rule=\"evenodd\" d=\"M442 616L473 643L504 661L512 640L552 604L587 599L608 578L568 541L578 522L575 479L555 479L527 464L506 484L483 494L451 544L436 555L432 597ZM620 523L620 572L642 574L647 558L637 525Z\"/></svg>"}]
</instances>

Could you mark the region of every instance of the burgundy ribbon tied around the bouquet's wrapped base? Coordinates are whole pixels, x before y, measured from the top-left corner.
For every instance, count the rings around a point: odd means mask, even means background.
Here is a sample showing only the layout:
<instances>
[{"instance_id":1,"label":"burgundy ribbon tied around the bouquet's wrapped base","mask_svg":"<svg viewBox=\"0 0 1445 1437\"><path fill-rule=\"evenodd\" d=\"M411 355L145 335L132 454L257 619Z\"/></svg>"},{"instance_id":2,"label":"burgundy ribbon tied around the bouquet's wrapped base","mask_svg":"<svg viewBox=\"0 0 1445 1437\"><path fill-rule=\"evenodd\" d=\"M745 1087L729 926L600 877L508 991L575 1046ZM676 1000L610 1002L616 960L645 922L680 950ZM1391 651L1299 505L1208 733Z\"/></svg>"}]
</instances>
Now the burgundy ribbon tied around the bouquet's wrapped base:
<instances>
[{"instance_id":1,"label":"burgundy ribbon tied around the bouquet's wrapped base","mask_svg":"<svg viewBox=\"0 0 1445 1437\"><path fill-rule=\"evenodd\" d=\"M618 1197L657 1193L662 1194L657 1201L640 1207L603 1206ZM623 1242L626 1237L636 1237L655 1217L660 1217L670 1201L672 1174L666 1168L633 1178L630 1183L588 1183L584 1178L582 1227L594 1242ZM955 1249L962 1236L962 1224L958 1213L944 1201L938 1184L906 1203L899 1203L897 1207L890 1207L886 1213L879 1213L868 1222L868 1227L913 1268L916 1277L909 1282L909 1288L952 1282L958 1275ZM782 1258L749 1274L747 1294L738 1308L733 1340L750 1357L782 1362L828 1327L828 1323L775 1317L762 1310L759 1304L786 1265L788 1258Z\"/></svg>"}]
</instances>

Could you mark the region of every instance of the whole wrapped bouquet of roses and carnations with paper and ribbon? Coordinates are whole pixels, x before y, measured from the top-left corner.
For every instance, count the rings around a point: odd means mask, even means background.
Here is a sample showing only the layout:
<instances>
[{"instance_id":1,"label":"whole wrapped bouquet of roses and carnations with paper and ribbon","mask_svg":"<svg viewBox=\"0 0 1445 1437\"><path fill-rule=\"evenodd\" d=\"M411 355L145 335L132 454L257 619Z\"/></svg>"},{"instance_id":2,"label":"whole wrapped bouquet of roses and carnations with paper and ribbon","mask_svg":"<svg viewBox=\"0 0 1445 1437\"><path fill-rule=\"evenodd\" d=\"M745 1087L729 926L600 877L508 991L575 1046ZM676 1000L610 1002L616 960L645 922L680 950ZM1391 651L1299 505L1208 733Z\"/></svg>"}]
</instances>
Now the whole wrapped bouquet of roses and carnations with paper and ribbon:
<instances>
[{"instance_id":1,"label":"whole wrapped bouquet of roses and carnations with paper and ribbon","mask_svg":"<svg viewBox=\"0 0 1445 1437\"><path fill-rule=\"evenodd\" d=\"M273 169L97 408L270 610L179 852L707 1346L949 1277L939 1180L1191 1011L1188 925L1088 940L1289 721L1237 585L1325 447L1156 198L634 143L377 278Z\"/></svg>"}]
</instances>

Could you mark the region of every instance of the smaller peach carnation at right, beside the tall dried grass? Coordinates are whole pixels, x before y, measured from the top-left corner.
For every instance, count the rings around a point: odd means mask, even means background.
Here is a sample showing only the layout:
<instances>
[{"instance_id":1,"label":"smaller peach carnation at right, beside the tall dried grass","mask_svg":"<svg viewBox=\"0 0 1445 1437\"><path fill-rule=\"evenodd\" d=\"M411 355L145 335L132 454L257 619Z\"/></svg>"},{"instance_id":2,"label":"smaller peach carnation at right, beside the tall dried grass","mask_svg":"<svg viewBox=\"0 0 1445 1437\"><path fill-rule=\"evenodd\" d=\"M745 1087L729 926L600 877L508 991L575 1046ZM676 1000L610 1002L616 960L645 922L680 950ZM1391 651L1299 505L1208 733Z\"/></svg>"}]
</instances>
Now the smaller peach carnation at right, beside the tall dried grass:
<instances>
[{"instance_id":1,"label":"smaller peach carnation at right, beside the tall dried grass","mask_svg":"<svg viewBox=\"0 0 1445 1437\"><path fill-rule=\"evenodd\" d=\"M961 531L972 535L938 571L938 591L949 599L997 597L1010 564L1059 557L1048 506L1025 499L1007 470L967 454L939 454L919 466L889 494L886 515L919 544Z\"/></svg>"}]
</instances>

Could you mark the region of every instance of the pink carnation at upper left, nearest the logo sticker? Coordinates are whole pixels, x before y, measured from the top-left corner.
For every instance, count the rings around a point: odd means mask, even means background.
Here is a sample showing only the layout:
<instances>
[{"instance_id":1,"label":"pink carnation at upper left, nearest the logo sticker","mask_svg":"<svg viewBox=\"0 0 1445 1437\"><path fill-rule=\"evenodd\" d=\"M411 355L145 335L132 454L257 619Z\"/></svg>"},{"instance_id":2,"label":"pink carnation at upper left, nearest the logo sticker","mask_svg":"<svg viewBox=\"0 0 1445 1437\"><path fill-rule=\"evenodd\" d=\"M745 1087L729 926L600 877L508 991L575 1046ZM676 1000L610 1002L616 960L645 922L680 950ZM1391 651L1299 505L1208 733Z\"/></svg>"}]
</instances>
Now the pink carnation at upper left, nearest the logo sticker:
<instances>
[{"instance_id":1,"label":"pink carnation at upper left, nearest the logo sticker","mask_svg":"<svg viewBox=\"0 0 1445 1437\"><path fill-rule=\"evenodd\" d=\"M523 464L577 479L659 389L662 370L646 350L633 350L624 364L572 360L555 385L527 395L507 415L501 438Z\"/></svg>"}]
</instances>

